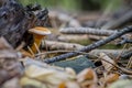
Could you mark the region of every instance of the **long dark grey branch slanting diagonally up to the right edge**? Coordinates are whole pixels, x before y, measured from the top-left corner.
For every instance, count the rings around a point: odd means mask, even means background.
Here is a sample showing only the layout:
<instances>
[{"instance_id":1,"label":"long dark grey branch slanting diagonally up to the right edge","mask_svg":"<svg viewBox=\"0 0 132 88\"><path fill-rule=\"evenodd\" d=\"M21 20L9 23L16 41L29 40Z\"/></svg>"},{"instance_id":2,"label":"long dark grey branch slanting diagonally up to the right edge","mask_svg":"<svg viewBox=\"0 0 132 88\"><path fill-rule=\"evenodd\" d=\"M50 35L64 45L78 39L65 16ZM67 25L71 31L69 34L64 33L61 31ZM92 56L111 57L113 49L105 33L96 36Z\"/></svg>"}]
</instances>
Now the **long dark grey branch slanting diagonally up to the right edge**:
<instances>
[{"instance_id":1,"label":"long dark grey branch slanting diagonally up to the right edge","mask_svg":"<svg viewBox=\"0 0 132 88\"><path fill-rule=\"evenodd\" d=\"M116 32L113 33L112 35L110 35L109 37L107 37L106 40L100 40L94 44L90 44L88 46L85 46L84 48L79 50L78 52L90 52L91 50L95 50L99 46L102 46L120 36L122 36L123 34L127 34L127 33L130 33L132 32L132 26L130 28L125 28L123 30L121 30L120 32ZM63 61L63 59L66 59L68 57L73 57L73 56L76 56L76 55L79 55L78 53L66 53L66 54L63 54L63 55L59 55L59 56L56 56L56 57L53 57L53 58L47 58L47 59L44 59L45 63L54 63L54 62L58 62L58 61Z\"/></svg>"}]
</instances>

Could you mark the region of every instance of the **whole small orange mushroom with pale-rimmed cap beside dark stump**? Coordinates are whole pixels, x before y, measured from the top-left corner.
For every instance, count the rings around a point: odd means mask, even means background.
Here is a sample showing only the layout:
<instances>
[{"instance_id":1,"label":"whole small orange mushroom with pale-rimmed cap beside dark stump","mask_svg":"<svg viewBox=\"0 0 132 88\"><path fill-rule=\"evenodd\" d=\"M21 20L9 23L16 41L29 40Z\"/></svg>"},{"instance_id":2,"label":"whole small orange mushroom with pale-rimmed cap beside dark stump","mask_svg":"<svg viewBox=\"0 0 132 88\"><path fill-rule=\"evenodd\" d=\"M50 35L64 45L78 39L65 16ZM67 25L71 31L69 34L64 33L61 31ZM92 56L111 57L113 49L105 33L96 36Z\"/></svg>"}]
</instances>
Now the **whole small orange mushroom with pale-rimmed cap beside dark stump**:
<instances>
[{"instance_id":1,"label":"whole small orange mushroom with pale-rimmed cap beside dark stump","mask_svg":"<svg viewBox=\"0 0 132 88\"><path fill-rule=\"evenodd\" d=\"M37 46L40 46L41 41L46 35L51 34L51 31L48 29L46 29L46 28L36 26L36 28L33 28L33 29L30 29L29 32L32 33L33 37L34 37L34 44L31 46L31 50L33 51L33 53L36 53L37 48L36 48L35 44Z\"/></svg>"}]
</instances>

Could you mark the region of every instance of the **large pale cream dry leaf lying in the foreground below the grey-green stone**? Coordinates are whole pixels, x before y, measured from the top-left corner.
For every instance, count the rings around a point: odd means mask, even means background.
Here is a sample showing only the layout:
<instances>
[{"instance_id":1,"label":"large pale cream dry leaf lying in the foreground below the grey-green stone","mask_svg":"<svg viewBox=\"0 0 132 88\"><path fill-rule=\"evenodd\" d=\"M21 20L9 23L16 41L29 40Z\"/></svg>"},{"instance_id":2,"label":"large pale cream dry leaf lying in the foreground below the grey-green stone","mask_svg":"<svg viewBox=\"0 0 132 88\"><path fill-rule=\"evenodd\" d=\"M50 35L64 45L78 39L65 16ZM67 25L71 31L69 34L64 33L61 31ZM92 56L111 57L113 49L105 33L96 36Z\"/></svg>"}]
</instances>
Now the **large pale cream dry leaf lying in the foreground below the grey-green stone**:
<instances>
[{"instance_id":1,"label":"large pale cream dry leaf lying in the foreground below the grey-green stone","mask_svg":"<svg viewBox=\"0 0 132 88\"><path fill-rule=\"evenodd\" d=\"M33 59L32 59L33 61ZM76 76L65 70L48 65L29 64L25 68L25 77L45 82L46 85L58 86L61 82L75 80Z\"/></svg>"}]
</instances>

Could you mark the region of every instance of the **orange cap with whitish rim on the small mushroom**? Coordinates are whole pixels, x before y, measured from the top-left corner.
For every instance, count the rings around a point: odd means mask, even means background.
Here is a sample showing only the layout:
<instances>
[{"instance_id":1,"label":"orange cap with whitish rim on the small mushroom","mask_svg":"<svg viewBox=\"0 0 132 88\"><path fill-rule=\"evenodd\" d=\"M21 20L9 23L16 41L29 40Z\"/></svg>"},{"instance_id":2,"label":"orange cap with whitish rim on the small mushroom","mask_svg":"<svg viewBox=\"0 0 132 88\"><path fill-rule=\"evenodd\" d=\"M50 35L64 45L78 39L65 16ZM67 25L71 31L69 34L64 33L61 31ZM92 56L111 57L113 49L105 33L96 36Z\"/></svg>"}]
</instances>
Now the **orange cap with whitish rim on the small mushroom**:
<instances>
[{"instance_id":1,"label":"orange cap with whitish rim on the small mushroom","mask_svg":"<svg viewBox=\"0 0 132 88\"><path fill-rule=\"evenodd\" d=\"M51 31L46 28L43 28L43 26L36 26L36 28L33 28L33 29L30 29L29 30L30 33L33 33L33 34L38 34L38 35L48 35L51 34Z\"/></svg>"}]
</instances>

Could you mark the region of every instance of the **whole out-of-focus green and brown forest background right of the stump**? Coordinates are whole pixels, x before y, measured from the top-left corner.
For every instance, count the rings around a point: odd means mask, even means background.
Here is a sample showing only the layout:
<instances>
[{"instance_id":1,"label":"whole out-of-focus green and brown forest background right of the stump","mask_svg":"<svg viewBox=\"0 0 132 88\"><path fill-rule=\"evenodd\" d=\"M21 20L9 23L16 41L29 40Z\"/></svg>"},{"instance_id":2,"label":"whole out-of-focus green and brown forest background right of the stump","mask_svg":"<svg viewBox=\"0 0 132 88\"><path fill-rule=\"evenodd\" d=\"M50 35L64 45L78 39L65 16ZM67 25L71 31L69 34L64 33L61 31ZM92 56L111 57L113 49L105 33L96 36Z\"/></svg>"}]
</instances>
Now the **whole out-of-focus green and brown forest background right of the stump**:
<instances>
[{"instance_id":1,"label":"whole out-of-focus green and brown forest background right of the stump","mask_svg":"<svg viewBox=\"0 0 132 88\"><path fill-rule=\"evenodd\" d=\"M62 26L68 20L69 25L91 26L101 29L117 29L131 24L132 0L19 0L23 6L41 4L50 10L50 16L57 16L52 21L53 26ZM124 15L125 14L125 15ZM62 19L63 18L63 19ZM73 21L74 19L74 21ZM75 19L77 20L75 23ZM118 23L118 24L117 24ZM74 24L74 25L73 25Z\"/></svg>"}]
</instances>

